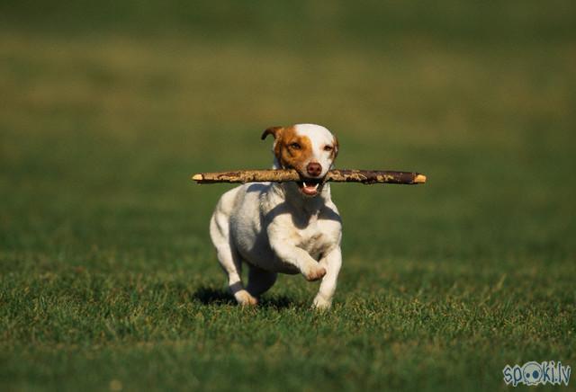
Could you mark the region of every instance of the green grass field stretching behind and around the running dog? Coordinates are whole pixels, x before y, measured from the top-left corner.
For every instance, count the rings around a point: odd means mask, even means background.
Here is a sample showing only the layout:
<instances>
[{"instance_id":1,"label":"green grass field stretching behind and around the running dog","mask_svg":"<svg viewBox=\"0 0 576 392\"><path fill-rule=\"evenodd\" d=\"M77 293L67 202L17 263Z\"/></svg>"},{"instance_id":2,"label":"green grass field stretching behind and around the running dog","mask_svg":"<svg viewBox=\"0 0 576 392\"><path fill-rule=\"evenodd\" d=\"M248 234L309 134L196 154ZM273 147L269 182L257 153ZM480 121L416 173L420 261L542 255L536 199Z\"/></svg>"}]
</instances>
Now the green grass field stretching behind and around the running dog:
<instances>
[{"instance_id":1,"label":"green grass field stretching behind and around the running dog","mask_svg":"<svg viewBox=\"0 0 576 392\"><path fill-rule=\"evenodd\" d=\"M97 4L97 5L96 5ZM503 390L576 367L571 2L0 5L0 390ZM237 307L208 236L271 125L340 168L333 309ZM576 386L571 380L569 388ZM566 388L563 388L563 390Z\"/></svg>"}]
</instances>

